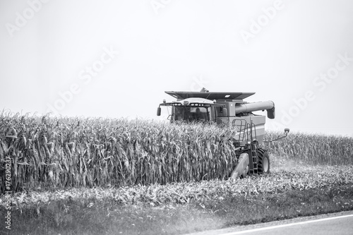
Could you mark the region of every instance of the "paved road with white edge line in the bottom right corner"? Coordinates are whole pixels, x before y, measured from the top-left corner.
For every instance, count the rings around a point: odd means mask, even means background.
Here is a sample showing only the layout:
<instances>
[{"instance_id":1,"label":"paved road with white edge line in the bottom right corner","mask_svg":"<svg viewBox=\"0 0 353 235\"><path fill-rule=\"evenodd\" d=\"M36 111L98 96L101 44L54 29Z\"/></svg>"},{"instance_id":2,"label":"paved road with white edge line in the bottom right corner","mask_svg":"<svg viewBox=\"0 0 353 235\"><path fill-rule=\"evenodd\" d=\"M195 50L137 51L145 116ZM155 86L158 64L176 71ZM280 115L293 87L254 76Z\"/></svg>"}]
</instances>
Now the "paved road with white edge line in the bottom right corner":
<instances>
[{"instance_id":1,"label":"paved road with white edge line in the bottom right corner","mask_svg":"<svg viewBox=\"0 0 353 235\"><path fill-rule=\"evenodd\" d=\"M353 212L341 212L317 217L289 219L281 222L270 222L250 226L234 227L214 231L204 231L194 235L301 235L301 234L330 234L352 235Z\"/></svg>"}]
</instances>

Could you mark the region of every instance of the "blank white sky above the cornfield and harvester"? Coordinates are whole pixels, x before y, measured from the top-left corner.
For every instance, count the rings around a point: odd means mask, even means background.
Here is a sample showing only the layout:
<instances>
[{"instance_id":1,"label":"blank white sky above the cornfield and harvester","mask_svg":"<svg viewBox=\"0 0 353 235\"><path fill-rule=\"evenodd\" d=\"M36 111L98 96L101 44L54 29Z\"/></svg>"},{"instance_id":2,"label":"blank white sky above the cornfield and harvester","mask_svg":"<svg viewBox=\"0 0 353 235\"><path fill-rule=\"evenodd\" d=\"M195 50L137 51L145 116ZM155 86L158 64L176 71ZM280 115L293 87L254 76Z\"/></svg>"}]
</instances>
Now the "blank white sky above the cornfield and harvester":
<instances>
[{"instance_id":1,"label":"blank white sky above the cornfield and harvester","mask_svg":"<svg viewBox=\"0 0 353 235\"><path fill-rule=\"evenodd\" d=\"M353 2L275 2L0 0L0 109L156 118L164 90L204 86L273 100L270 129L353 135Z\"/></svg>"}]
</instances>

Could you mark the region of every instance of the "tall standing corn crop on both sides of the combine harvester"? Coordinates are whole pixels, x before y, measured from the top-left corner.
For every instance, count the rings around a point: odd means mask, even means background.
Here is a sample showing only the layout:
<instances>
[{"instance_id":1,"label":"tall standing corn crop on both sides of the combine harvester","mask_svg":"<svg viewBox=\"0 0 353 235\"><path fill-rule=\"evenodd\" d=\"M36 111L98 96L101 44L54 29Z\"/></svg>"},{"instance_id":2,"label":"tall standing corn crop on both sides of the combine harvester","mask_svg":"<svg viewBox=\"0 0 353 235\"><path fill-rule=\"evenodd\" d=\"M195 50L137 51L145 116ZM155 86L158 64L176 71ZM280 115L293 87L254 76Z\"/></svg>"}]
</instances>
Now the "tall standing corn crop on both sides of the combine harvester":
<instances>
[{"instance_id":1,"label":"tall standing corn crop on both sides of the combine harvester","mask_svg":"<svg viewBox=\"0 0 353 235\"><path fill-rule=\"evenodd\" d=\"M2 112L0 190L6 191L8 170L12 191L225 179L237 164L233 134L215 125ZM352 138L289 133L264 145L284 158L353 164Z\"/></svg>"}]
</instances>

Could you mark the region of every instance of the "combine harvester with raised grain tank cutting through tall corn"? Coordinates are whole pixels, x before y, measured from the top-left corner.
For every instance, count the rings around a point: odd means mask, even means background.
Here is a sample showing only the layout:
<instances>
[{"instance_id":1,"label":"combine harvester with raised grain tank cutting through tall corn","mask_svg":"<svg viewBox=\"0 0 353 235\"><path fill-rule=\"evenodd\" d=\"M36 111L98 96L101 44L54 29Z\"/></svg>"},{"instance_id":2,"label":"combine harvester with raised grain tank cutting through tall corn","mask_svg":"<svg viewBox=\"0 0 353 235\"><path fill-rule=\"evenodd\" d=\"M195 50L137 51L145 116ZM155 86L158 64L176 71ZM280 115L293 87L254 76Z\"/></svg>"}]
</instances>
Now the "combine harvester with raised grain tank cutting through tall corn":
<instances>
[{"instance_id":1,"label":"combine harvester with raised grain tank cutting through tall corn","mask_svg":"<svg viewBox=\"0 0 353 235\"><path fill-rule=\"evenodd\" d=\"M238 163L232 171L232 178L270 172L268 152L259 147L265 135L265 116L252 112L266 110L268 118L274 119L275 104L272 101L249 103L244 99L255 92L208 92L205 88L201 92L166 91L166 93L177 101L163 100L157 109L157 116L161 114L161 107L172 107L172 114L168 116L172 123L215 122L236 131L232 141L236 147ZM281 138L285 138L288 133L289 129L286 128L285 135ZM280 138L276 140L278 139Z\"/></svg>"}]
</instances>

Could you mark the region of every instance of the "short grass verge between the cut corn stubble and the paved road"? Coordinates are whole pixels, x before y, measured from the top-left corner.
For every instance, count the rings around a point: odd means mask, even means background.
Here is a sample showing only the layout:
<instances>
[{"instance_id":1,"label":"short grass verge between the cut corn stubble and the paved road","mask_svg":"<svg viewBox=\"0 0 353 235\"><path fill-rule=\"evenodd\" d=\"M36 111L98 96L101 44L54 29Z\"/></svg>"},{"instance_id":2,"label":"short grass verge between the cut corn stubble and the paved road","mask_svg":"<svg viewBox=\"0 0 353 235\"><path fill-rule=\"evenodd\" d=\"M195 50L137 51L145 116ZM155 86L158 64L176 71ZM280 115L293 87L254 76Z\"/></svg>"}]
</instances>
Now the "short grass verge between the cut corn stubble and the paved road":
<instances>
[{"instance_id":1,"label":"short grass verge between the cut corn stubble and the paved road","mask_svg":"<svg viewBox=\"0 0 353 235\"><path fill-rule=\"evenodd\" d=\"M282 193L227 195L186 204L122 205L116 200L66 198L15 210L1 234L186 234L234 225L353 210L353 184ZM0 215L5 213L0 207Z\"/></svg>"}]
</instances>

